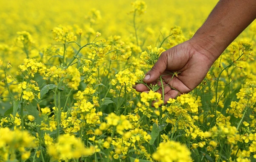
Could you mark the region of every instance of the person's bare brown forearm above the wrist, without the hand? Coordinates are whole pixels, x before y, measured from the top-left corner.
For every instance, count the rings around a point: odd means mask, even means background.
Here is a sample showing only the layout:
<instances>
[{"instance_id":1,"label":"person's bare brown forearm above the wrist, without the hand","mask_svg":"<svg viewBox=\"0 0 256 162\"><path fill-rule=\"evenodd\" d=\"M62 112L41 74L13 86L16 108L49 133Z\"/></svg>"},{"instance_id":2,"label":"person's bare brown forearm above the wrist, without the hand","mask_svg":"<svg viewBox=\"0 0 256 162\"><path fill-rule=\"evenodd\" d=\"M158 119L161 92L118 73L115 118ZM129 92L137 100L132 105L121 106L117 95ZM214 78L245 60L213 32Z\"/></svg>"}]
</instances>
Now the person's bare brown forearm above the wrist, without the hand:
<instances>
[{"instance_id":1,"label":"person's bare brown forearm above the wrist, without the hand","mask_svg":"<svg viewBox=\"0 0 256 162\"><path fill-rule=\"evenodd\" d=\"M255 18L256 0L220 0L191 40L215 61Z\"/></svg>"}]
</instances>

